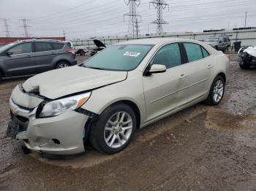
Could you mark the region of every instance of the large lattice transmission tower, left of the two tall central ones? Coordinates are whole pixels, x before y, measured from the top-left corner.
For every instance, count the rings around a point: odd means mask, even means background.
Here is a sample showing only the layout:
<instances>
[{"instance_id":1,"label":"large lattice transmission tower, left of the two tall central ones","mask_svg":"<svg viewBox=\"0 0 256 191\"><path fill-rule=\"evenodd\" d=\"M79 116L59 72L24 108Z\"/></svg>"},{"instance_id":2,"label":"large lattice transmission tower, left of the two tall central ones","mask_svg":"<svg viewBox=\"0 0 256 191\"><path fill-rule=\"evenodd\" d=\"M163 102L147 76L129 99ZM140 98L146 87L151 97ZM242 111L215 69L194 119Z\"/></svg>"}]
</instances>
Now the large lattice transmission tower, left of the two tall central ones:
<instances>
[{"instance_id":1,"label":"large lattice transmission tower, left of the two tall central ones","mask_svg":"<svg viewBox=\"0 0 256 191\"><path fill-rule=\"evenodd\" d=\"M129 5L129 12L124 14L124 17L129 16L128 33L132 36L135 36L135 34L138 35L138 22L141 22L141 15L138 15L136 12L136 7L139 7L140 0L124 0L124 3L127 4L127 6ZM140 21L138 21L138 17Z\"/></svg>"}]
</instances>

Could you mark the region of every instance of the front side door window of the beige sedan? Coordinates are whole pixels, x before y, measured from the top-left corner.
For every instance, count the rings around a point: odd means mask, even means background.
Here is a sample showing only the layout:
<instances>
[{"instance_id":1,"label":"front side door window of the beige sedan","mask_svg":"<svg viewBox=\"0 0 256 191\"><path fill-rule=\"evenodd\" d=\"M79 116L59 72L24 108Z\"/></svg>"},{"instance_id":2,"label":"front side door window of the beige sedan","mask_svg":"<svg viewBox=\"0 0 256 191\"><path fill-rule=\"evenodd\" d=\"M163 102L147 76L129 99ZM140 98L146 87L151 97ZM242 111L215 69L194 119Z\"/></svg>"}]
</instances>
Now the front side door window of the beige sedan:
<instances>
[{"instance_id":1,"label":"front side door window of the beige sedan","mask_svg":"<svg viewBox=\"0 0 256 191\"><path fill-rule=\"evenodd\" d=\"M181 52L178 43L167 44L154 55L151 65L162 64L166 69L181 65Z\"/></svg>"}]
</instances>

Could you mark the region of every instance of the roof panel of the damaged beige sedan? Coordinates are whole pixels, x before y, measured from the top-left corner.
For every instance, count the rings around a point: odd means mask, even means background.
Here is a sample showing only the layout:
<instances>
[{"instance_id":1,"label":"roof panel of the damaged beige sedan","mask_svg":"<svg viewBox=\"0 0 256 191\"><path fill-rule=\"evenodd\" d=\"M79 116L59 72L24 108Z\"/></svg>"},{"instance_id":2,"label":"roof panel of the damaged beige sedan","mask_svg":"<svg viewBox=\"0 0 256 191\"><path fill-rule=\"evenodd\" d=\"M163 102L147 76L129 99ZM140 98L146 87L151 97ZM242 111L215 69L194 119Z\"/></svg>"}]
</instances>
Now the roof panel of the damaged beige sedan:
<instances>
[{"instance_id":1,"label":"roof panel of the damaged beige sedan","mask_svg":"<svg viewBox=\"0 0 256 191\"><path fill-rule=\"evenodd\" d=\"M193 39L179 39L179 38L146 38L146 39L136 39L129 40L127 42L119 42L117 44L165 44L169 42L196 42L198 41Z\"/></svg>"}]
</instances>

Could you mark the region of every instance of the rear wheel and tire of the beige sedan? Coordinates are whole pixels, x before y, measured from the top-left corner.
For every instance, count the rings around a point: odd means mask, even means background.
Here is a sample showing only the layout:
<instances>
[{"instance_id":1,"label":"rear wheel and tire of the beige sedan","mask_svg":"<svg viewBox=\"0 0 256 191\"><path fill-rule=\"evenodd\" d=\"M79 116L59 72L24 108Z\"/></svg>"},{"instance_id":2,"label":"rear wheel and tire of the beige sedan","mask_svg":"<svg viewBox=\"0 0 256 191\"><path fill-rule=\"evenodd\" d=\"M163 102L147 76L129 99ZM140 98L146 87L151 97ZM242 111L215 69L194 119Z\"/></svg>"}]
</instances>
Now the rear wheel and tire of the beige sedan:
<instances>
[{"instance_id":1,"label":"rear wheel and tire of the beige sedan","mask_svg":"<svg viewBox=\"0 0 256 191\"><path fill-rule=\"evenodd\" d=\"M225 81L221 76L217 76L212 82L208 98L204 101L209 106L217 106L225 93Z\"/></svg>"}]
</instances>

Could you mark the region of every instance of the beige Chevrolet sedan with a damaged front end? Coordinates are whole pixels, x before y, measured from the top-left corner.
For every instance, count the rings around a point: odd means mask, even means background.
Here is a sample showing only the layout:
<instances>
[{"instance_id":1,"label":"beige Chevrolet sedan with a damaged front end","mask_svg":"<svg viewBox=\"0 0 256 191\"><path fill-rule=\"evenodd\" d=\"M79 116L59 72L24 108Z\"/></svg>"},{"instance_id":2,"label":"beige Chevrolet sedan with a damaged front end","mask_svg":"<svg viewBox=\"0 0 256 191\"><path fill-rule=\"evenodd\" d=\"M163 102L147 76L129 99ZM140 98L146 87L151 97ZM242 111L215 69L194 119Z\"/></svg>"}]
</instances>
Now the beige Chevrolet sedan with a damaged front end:
<instances>
[{"instance_id":1,"label":"beige Chevrolet sedan with a damaged front end","mask_svg":"<svg viewBox=\"0 0 256 191\"><path fill-rule=\"evenodd\" d=\"M7 135L50 154L123 150L152 122L222 101L229 59L189 39L141 39L107 47L80 64L38 74L10 97Z\"/></svg>"}]
</instances>

